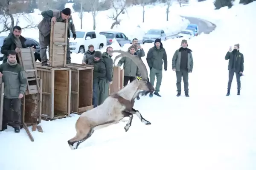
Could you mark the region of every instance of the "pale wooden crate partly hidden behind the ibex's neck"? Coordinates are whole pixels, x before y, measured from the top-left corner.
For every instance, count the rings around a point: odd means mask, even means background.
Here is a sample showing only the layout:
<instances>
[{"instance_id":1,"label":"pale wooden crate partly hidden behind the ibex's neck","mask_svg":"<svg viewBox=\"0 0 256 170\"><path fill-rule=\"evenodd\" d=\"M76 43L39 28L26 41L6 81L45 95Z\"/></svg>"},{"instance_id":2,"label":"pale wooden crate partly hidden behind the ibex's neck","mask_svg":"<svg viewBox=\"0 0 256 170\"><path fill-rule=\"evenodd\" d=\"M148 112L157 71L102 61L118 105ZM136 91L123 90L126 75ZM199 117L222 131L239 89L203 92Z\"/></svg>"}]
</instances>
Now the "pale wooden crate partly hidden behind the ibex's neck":
<instances>
[{"instance_id":1,"label":"pale wooden crate partly hidden behind the ibex's neck","mask_svg":"<svg viewBox=\"0 0 256 170\"><path fill-rule=\"evenodd\" d=\"M109 94L118 92L124 86L124 70L120 66L113 67L113 82L110 85Z\"/></svg>"}]
</instances>

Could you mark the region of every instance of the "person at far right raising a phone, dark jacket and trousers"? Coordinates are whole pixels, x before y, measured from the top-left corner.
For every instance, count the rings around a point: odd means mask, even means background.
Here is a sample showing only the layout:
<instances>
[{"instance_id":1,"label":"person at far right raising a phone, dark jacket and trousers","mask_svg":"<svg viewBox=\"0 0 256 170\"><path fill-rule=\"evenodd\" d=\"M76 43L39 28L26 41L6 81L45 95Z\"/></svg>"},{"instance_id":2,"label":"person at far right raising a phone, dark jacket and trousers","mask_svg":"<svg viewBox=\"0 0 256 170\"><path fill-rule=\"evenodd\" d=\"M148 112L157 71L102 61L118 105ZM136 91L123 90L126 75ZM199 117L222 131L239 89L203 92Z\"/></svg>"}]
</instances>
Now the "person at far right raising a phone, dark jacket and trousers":
<instances>
[{"instance_id":1,"label":"person at far right raising a phone, dark jacket and trousers","mask_svg":"<svg viewBox=\"0 0 256 170\"><path fill-rule=\"evenodd\" d=\"M225 59L228 61L228 84L227 84L227 95L230 95L230 88L232 84L232 80L234 74L236 73L236 82L237 82L237 95L240 95L241 89L241 81L240 77L244 72L244 55L239 51L240 45L234 45L234 49L232 51L232 47L230 46L229 51L227 52Z\"/></svg>"}]
</instances>

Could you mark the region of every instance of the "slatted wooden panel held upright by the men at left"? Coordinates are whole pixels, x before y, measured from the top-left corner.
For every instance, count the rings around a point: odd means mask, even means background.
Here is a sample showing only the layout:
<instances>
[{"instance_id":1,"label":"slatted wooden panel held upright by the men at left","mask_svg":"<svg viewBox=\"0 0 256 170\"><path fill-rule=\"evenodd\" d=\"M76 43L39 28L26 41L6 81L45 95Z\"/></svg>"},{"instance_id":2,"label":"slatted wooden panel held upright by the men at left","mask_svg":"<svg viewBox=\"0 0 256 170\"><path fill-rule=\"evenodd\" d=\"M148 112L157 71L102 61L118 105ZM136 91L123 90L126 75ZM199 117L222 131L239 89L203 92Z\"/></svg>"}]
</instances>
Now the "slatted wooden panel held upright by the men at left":
<instances>
[{"instance_id":1,"label":"slatted wooden panel held upright by the men at left","mask_svg":"<svg viewBox=\"0 0 256 170\"><path fill-rule=\"evenodd\" d=\"M26 94L38 94L40 92L40 86L36 70L34 50L31 48L20 48L18 57L20 65L23 66L27 74Z\"/></svg>"}]
</instances>

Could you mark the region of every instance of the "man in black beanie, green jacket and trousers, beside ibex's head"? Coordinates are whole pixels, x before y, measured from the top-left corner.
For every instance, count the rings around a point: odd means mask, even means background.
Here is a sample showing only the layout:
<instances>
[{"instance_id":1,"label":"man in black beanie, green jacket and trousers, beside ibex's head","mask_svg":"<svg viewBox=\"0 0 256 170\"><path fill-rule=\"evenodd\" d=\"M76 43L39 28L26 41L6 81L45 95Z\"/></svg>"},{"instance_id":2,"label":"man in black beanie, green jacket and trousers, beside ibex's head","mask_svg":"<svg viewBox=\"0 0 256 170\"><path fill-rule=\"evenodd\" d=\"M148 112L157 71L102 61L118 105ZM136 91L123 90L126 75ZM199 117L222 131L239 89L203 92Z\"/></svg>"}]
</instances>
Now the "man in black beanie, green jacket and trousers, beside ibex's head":
<instances>
[{"instance_id":1,"label":"man in black beanie, green jacket and trousers, beside ibex's head","mask_svg":"<svg viewBox=\"0 0 256 170\"><path fill-rule=\"evenodd\" d=\"M154 47L150 48L148 50L147 54L147 62L148 67L150 69L150 83L151 85L154 85L155 77L157 77L157 85L156 90L154 92L155 95L161 97L159 94L160 86L162 82L163 77L163 64L164 64L164 70L167 70L167 54L165 49L163 48L163 44L161 42L161 39L157 38L154 42ZM153 93L149 94L149 97L152 97Z\"/></svg>"}]
</instances>

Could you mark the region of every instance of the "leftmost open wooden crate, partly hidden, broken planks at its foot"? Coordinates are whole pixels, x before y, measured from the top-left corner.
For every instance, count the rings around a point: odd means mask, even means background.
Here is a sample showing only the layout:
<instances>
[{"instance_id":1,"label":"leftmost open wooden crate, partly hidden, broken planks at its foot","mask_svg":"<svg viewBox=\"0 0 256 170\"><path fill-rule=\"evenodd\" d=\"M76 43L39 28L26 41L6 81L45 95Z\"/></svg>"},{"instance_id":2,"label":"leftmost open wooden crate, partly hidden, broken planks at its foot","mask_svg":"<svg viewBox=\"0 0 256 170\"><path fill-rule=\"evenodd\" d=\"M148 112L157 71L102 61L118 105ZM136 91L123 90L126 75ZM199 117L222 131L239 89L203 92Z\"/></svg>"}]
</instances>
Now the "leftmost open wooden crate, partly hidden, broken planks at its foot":
<instances>
[{"instance_id":1,"label":"leftmost open wooden crate, partly hidden, broken planks at its foot","mask_svg":"<svg viewBox=\"0 0 256 170\"><path fill-rule=\"evenodd\" d=\"M21 123L29 139L34 142L34 138L29 131L28 126L32 126L32 131L38 129L39 132L43 132L41 125L41 111L42 111L42 85L43 81L40 80L40 93L38 94L26 94L21 99Z\"/></svg>"}]
</instances>

